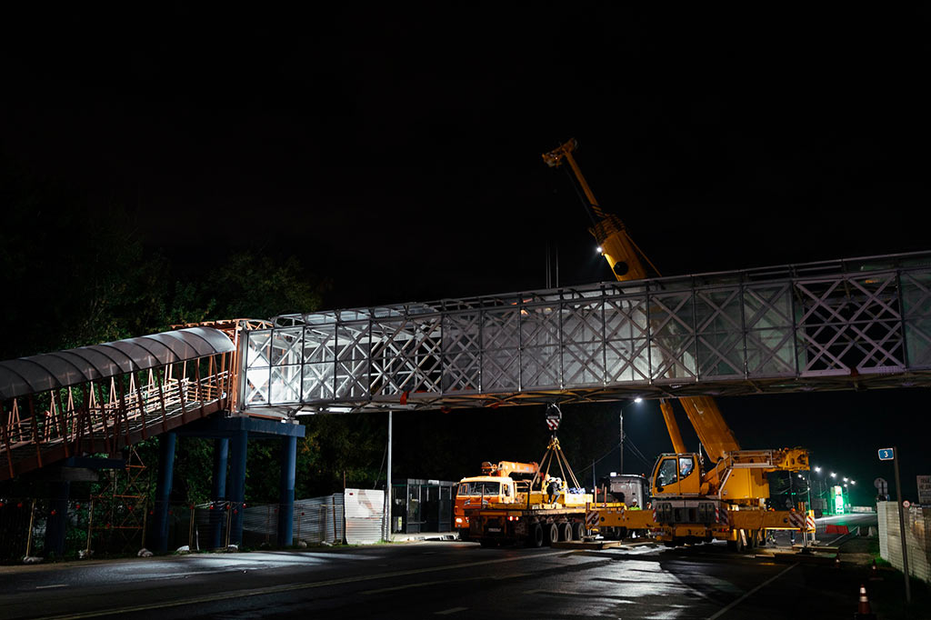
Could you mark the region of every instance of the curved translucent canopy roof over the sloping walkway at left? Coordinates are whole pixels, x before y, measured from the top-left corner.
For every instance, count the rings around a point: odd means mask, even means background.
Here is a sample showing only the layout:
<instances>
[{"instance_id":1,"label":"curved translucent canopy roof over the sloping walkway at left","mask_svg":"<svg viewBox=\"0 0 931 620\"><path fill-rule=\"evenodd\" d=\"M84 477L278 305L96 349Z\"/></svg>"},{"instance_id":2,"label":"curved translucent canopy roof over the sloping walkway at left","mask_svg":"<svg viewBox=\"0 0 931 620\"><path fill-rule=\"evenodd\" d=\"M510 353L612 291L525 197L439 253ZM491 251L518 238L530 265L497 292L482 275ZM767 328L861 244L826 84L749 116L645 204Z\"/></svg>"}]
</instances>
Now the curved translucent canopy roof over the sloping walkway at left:
<instances>
[{"instance_id":1,"label":"curved translucent canopy roof over the sloping walkway at left","mask_svg":"<svg viewBox=\"0 0 931 620\"><path fill-rule=\"evenodd\" d=\"M0 362L0 400L234 350L220 330L187 328Z\"/></svg>"}]
</instances>

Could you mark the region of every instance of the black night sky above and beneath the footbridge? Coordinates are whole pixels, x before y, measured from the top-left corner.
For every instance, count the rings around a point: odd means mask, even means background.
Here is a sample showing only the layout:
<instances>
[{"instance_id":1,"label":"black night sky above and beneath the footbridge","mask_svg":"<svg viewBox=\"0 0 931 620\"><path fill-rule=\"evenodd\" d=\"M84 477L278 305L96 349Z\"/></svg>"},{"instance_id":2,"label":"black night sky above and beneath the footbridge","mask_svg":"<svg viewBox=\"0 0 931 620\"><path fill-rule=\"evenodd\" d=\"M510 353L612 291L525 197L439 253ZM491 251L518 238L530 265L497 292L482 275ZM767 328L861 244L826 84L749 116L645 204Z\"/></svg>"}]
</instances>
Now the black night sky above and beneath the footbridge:
<instances>
[{"instance_id":1,"label":"black night sky above and beneath the footbridge","mask_svg":"<svg viewBox=\"0 0 931 620\"><path fill-rule=\"evenodd\" d=\"M0 149L126 205L192 269L295 254L328 308L543 288L547 243L560 284L612 279L540 158L573 137L664 275L929 249L926 7L531 7L5 7ZM722 410L744 447L805 445L870 488L897 442L913 489L925 397ZM635 417L641 450L668 450Z\"/></svg>"}]
</instances>

